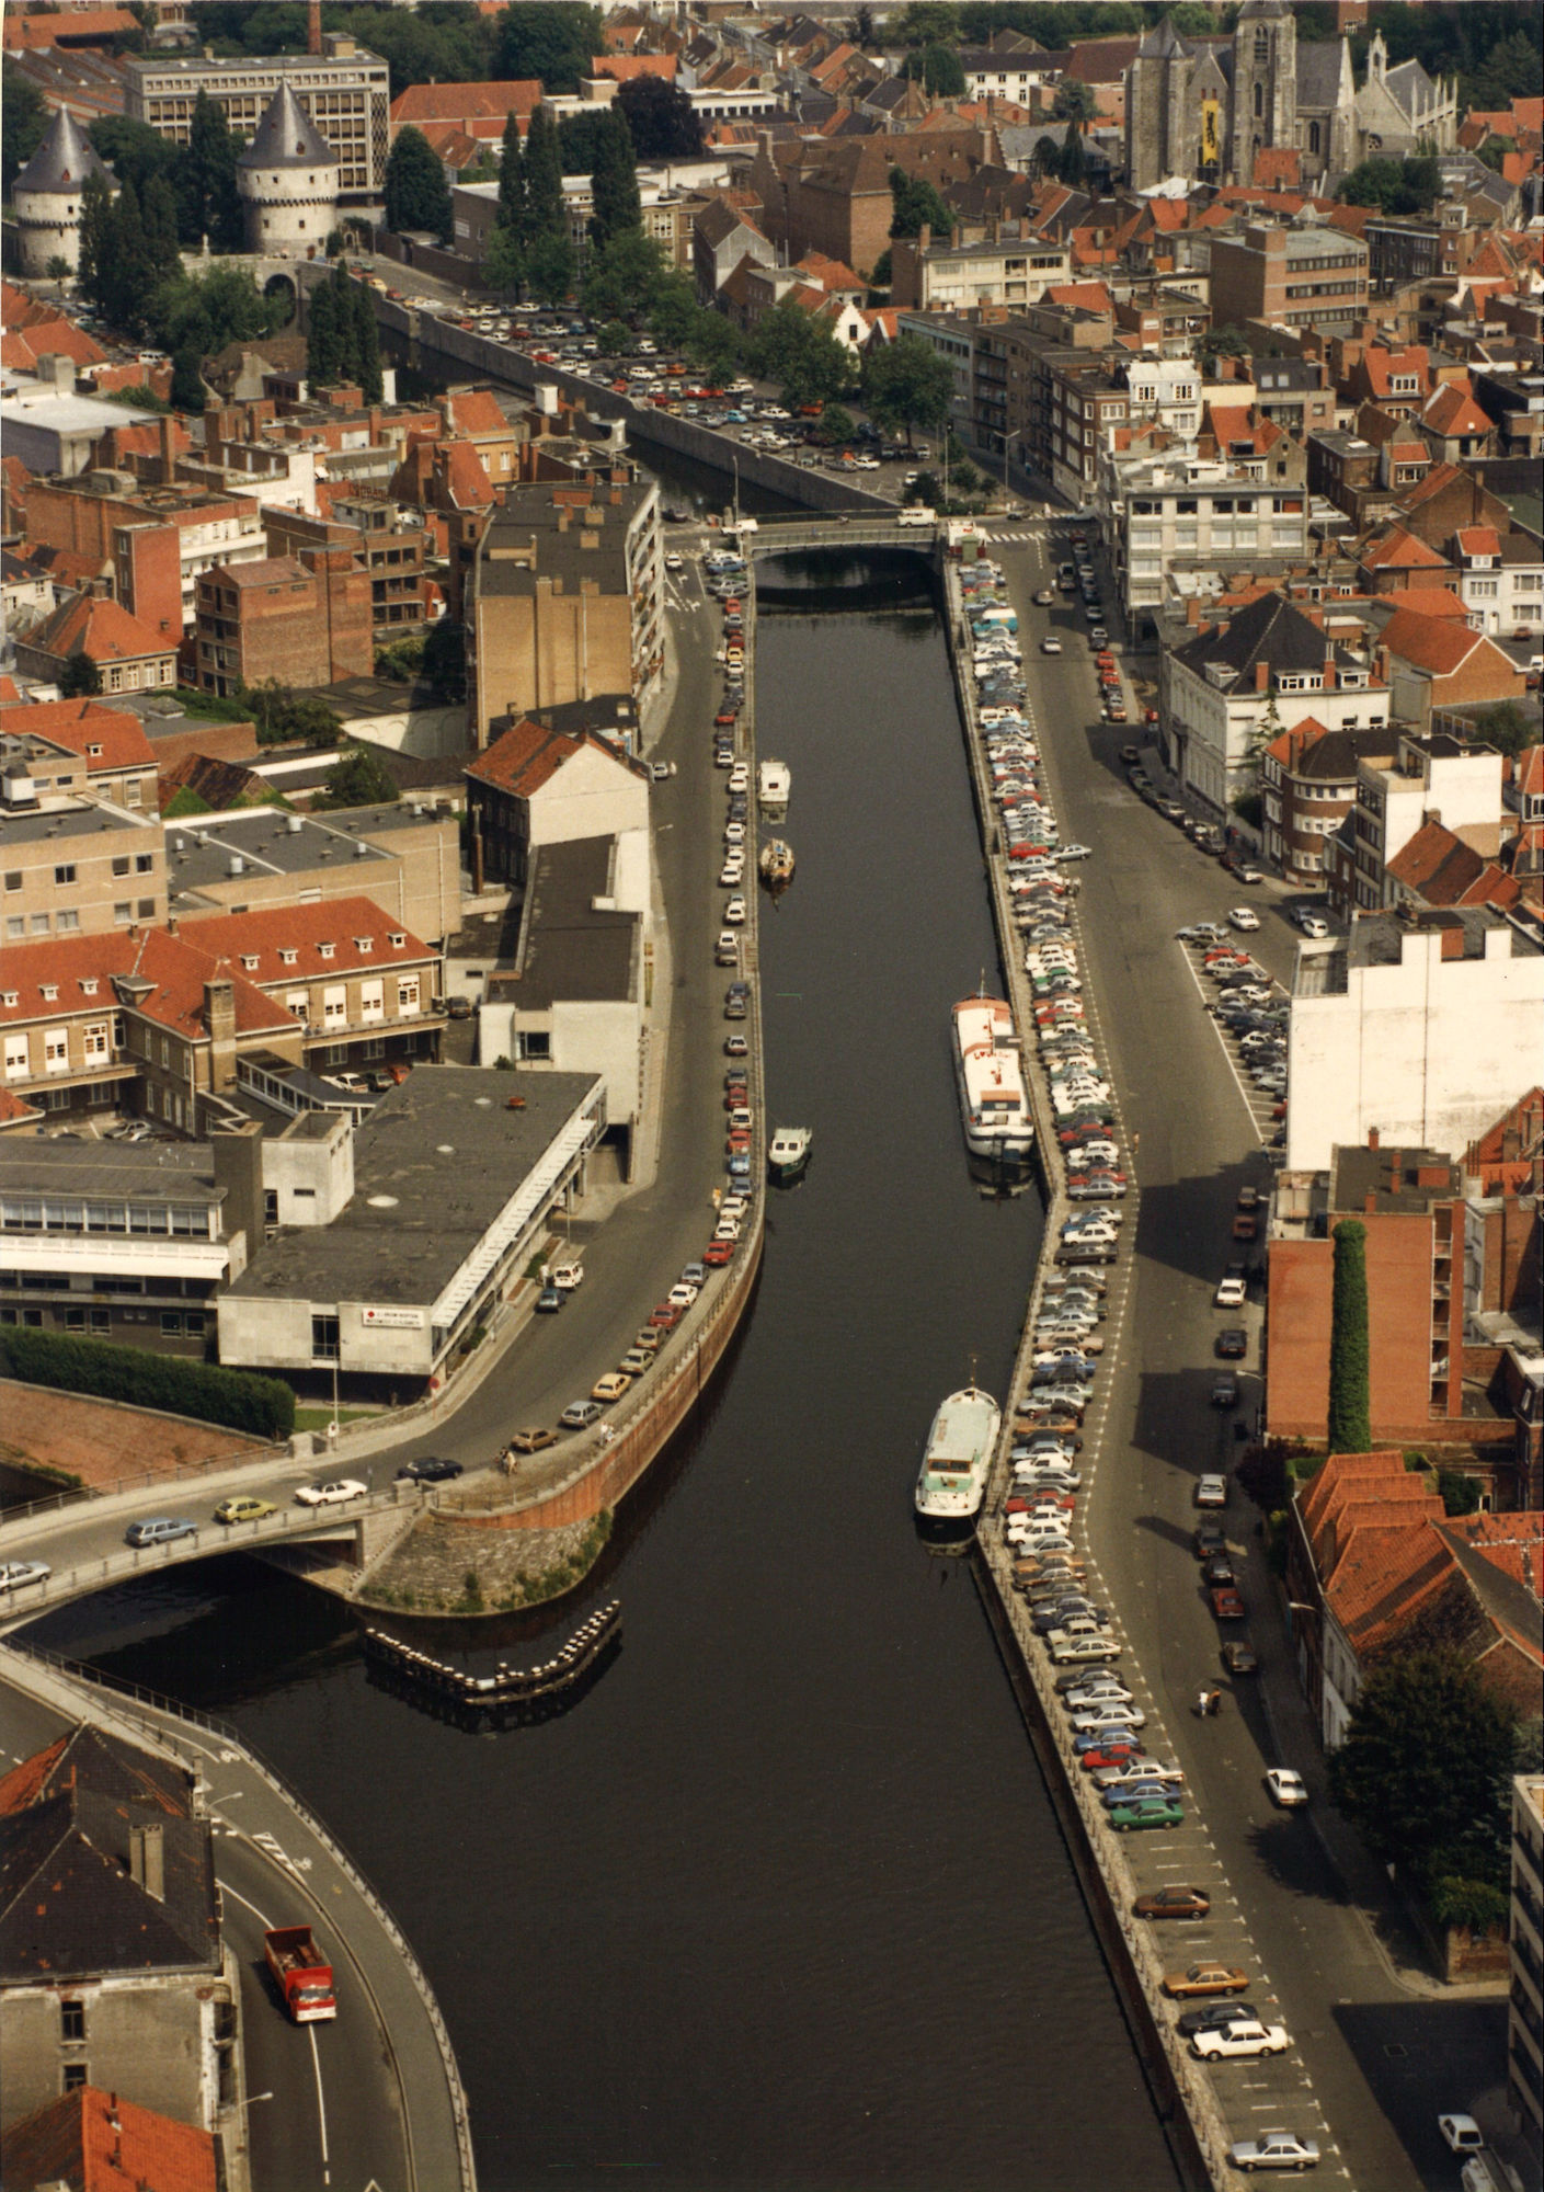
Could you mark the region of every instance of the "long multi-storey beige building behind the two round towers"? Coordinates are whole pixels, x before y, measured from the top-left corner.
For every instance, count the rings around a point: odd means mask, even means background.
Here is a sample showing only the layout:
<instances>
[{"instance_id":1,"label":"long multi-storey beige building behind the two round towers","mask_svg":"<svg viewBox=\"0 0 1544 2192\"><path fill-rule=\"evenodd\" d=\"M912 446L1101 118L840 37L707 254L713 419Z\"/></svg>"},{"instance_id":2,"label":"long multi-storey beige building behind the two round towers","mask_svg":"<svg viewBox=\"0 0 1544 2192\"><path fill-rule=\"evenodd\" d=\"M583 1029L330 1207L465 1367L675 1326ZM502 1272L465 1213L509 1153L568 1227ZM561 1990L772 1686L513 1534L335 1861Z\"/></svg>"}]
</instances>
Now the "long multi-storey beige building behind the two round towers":
<instances>
[{"instance_id":1,"label":"long multi-storey beige building behind the two round towers","mask_svg":"<svg viewBox=\"0 0 1544 2192\"><path fill-rule=\"evenodd\" d=\"M123 64L125 114L156 136L186 145L193 107L204 92L222 107L235 138L252 138L274 92L290 85L318 132L338 153L344 206L379 199L390 151L390 72L379 55L344 33L322 37L320 53L239 59L213 55L129 55Z\"/></svg>"}]
</instances>

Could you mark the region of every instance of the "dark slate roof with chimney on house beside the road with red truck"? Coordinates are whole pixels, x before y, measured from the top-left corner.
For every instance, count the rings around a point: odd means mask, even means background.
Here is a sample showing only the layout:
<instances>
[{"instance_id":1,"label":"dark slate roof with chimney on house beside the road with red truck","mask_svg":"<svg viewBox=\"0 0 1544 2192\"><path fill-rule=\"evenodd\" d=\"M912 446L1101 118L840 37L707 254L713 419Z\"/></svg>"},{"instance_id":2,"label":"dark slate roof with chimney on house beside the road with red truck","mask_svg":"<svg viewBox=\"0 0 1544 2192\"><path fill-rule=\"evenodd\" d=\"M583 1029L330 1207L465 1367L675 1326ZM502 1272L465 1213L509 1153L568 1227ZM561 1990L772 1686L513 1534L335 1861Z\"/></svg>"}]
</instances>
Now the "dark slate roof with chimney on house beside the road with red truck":
<instances>
[{"instance_id":1,"label":"dark slate roof with chimney on house beside the road with red truck","mask_svg":"<svg viewBox=\"0 0 1544 2192\"><path fill-rule=\"evenodd\" d=\"M134 1826L158 1826L164 1894L132 1879ZM77 1727L0 1782L0 1979L219 1971L208 1824L189 1776Z\"/></svg>"}]
</instances>

